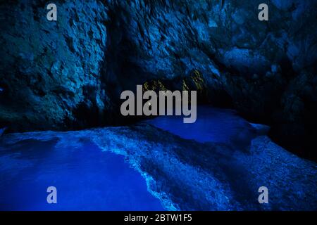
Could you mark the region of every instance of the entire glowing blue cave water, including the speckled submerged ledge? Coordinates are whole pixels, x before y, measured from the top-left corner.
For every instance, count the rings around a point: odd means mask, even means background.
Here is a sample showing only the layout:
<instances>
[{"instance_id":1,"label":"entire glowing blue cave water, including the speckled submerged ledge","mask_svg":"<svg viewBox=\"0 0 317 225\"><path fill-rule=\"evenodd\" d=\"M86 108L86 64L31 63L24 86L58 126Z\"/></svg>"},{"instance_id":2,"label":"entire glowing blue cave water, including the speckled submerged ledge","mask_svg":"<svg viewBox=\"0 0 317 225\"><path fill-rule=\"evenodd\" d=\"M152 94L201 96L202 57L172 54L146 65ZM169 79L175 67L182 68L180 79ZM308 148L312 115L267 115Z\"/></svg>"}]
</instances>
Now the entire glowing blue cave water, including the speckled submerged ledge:
<instances>
[{"instance_id":1,"label":"entire glowing blue cave water, including the speckled submerged ledge","mask_svg":"<svg viewBox=\"0 0 317 225\"><path fill-rule=\"evenodd\" d=\"M182 116L148 121L183 139L144 123L1 136L0 210L316 209L316 163L233 110L197 113L194 124ZM49 186L57 205L46 203ZM260 186L269 204L259 205Z\"/></svg>"}]
</instances>

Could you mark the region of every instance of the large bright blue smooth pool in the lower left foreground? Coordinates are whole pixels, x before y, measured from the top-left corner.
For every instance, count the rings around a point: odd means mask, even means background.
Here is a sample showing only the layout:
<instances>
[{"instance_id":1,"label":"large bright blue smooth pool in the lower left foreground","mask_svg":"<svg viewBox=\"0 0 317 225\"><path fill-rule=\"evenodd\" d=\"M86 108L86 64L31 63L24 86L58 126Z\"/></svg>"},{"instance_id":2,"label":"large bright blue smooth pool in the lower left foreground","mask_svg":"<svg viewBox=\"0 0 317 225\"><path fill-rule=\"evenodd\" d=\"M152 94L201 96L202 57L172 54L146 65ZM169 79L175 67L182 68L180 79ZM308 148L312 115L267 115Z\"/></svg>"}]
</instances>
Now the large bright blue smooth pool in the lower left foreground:
<instances>
[{"instance_id":1,"label":"large bright blue smooth pool in the lower left foreground","mask_svg":"<svg viewBox=\"0 0 317 225\"><path fill-rule=\"evenodd\" d=\"M53 141L0 147L0 210L163 210L123 157L89 141L80 148ZM46 202L56 186L57 204Z\"/></svg>"}]
</instances>

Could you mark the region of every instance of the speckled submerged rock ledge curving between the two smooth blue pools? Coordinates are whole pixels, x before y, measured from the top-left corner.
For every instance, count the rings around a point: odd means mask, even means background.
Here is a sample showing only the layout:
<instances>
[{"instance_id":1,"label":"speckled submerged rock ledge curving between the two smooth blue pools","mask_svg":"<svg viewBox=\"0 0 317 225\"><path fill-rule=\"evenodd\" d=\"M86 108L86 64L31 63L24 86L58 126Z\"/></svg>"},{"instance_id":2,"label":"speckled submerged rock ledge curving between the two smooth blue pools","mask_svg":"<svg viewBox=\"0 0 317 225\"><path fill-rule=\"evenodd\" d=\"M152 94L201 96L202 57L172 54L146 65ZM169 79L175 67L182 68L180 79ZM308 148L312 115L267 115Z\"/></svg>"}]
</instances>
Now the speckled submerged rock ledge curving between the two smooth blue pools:
<instances>
[{"instance_id":1,"label":"speckled submerged rock ledge curving between the two smooth blue pools","mask_svg":"<svg viewBox=\"0 0 317 225\"><path fill-rule=\"evenodd\" d=\"M58 139L57 146L68 148L89 139L101 150L124 155L166 210L317 210L316 163L288 153L268 136L253 139L250 152L245 153L224 144L181 139L140 123L6 134L0 144L27 139ZM258 203L260 186L268 187L268 204Z\"/></svg>"}]
</instances>

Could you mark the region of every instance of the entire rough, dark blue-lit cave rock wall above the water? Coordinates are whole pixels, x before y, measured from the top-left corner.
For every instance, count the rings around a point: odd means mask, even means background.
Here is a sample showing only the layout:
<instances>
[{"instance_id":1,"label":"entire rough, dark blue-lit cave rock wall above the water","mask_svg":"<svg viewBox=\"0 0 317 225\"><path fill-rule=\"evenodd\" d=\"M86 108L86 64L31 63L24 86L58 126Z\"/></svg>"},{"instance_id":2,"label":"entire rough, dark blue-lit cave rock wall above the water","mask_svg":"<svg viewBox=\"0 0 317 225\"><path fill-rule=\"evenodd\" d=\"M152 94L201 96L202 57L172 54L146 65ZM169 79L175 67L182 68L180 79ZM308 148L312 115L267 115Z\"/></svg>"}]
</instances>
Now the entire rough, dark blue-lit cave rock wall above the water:
<instances>
[{"instance_id":1,"label":"entire rough, dark blue-lit cave rock wall above the water","mask_svg":"<svg viewBox=\"0 0 317 225\"><path fill-rule=\"evenodd\" d=\"M304 157L317 149L317 1L1 1L0 128L120 124L120 93L159 82L204 92L271 125ZM268 4L261 22L258 6Z\"/></svg>"}]
</instances>

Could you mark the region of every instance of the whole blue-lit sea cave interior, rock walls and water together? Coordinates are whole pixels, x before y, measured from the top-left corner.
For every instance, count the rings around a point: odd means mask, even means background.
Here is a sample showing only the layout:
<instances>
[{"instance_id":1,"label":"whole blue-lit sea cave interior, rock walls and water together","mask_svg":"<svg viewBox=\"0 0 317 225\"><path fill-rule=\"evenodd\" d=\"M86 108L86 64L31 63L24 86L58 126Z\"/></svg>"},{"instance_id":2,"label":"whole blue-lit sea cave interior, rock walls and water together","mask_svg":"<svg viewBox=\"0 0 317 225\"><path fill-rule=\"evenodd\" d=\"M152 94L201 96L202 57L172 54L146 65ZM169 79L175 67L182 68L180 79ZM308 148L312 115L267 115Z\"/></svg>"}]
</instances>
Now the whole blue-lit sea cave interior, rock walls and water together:
<instances>
[{"instance_id":1,"label":"whole blue-lit sea cave interior, rock walls and water together","mask_svg":"<svg viewBox=\"0 0 317 225\"><path fill-rule=\"evenodd\" d=\"M0 1L0 210L317 210L316 7ZM123 115L138 85L195 91L197 120ZM73 207L42 203L54 185ZM37 202L19 202L23 187Z\"/></svg>"}]
</instances>

